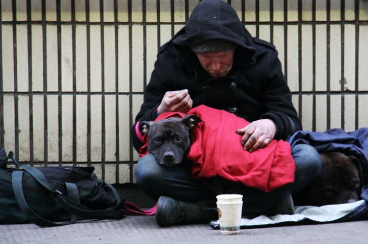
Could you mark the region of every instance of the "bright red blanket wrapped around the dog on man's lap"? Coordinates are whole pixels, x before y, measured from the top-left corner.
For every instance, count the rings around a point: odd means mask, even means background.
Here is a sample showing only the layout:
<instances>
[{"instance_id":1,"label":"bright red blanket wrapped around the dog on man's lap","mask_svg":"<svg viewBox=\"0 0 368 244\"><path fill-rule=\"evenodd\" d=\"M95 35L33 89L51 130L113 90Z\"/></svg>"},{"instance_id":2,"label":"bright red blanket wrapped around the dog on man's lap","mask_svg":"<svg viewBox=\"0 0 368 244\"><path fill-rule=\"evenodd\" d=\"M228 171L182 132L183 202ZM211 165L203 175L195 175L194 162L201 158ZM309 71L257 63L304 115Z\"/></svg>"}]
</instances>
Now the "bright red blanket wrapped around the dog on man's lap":
<instances>
[{"instance_id":1,"label":"bright red blanket wrapped around the dog on man's lap","mask_svg":"<svg viewBox=\"0 0 368 244\"><path fill-rule=\"evenodd\" d=\"M191 132L188 159L193 162L193 177L218 175L265 192L294 181L295 163L288 142L272 140L267 147L249 153L243 149L242 136L235 133L249 124L245 119L204 105L191 109L188 114L196 114L205 122ZM184 116L163 113L156 120ZM148 138L145 135L143 139L146 143L141 148L141 156L148 153Z\"/></svg>"}]
</instances>

